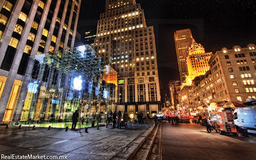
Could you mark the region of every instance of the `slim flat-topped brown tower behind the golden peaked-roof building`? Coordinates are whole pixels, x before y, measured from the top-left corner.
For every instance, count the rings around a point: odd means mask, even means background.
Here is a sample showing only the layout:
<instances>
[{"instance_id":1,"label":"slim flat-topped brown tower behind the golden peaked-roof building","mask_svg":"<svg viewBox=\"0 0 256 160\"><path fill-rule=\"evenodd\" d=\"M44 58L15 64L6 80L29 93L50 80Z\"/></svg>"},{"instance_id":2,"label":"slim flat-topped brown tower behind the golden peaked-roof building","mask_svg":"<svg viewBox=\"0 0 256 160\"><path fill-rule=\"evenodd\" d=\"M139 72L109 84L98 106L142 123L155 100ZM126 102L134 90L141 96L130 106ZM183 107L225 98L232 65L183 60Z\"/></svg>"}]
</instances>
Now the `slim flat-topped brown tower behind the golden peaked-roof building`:
<instances>
[{"instance_id":1,"label":"slim flat-topped brown tower behind the golden peaked-roof building","mask_svg":"<svg viewBox=\"0 0 256 160\"><path fill-rule=\"evenodd\" d=\"M190 29L178 30L174 33L175 48L180 72L180 81L182 83L186 81L186 75L188 75L187 56L193 40L194 38Z\"/></svg>"}]
</instances>

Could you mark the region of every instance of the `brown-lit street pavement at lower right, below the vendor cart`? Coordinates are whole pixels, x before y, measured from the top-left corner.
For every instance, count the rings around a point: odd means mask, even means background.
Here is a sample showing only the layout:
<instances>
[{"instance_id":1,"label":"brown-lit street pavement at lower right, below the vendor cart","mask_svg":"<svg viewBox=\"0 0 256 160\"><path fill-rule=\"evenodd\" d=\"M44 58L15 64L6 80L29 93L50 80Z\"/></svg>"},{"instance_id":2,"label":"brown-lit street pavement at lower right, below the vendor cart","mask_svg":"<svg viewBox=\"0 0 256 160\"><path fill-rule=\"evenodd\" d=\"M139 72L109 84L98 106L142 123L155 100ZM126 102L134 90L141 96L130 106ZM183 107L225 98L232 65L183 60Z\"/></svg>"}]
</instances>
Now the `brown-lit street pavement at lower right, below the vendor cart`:
<instances>
[{"instance_id":1,"label":"brown-lit street pavement at lower right, below the vendor cart","mask_svg":"<svg viewBox=\"0 0 256 160\"><path fill-rule=\"evenodd\" d=\"M256 159L256 137L208 133L197 124L163 123L162 159Z\"/></svg>"}]
</instances>

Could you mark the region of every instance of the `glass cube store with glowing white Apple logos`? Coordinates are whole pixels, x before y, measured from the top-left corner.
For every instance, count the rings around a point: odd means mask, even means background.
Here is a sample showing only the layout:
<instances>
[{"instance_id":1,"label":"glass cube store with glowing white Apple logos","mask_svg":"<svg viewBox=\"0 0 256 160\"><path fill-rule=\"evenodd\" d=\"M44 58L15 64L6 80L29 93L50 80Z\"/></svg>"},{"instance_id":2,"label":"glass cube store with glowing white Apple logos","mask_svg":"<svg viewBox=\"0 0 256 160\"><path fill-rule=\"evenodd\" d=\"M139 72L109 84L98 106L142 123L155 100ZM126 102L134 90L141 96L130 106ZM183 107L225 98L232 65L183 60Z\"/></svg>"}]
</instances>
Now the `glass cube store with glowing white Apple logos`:
<instances>
[{"instance_id":1,"label":"glass cube store with glowing white Apple logos","mask_svg":"<svg viewBox=\"0 0 256 160\"><path fill-rule=\"evenodd\" d=\"M117 72L90 45L30 58L20 124L64 128L78 110L84 127L105 123L106 112L115 110Z\"/></svg>"}]
</instances>

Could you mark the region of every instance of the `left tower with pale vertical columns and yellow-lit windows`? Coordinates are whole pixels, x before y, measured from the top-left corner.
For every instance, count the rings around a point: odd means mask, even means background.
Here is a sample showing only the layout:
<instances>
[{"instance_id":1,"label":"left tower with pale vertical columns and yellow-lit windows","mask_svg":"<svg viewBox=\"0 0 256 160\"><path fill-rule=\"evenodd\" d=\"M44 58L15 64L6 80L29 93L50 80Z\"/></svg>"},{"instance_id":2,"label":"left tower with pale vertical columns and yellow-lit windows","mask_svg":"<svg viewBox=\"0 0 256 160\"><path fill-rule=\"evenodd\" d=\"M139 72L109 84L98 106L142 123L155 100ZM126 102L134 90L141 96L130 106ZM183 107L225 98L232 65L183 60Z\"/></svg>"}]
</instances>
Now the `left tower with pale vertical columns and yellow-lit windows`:
<instances>
[{"instance_id":1,"label":"left tower with pale vertical columns and yellow-lit windows","mask_svg":"<svg viewBox=\"0 0 256 160\"><path fill-rule=\"evenodd\" d=\"M0 1L0 122L10 121L29 56L74 46L81 0ZM32 66L33 67L33 66Z\"/></svg>"}]
</instances>

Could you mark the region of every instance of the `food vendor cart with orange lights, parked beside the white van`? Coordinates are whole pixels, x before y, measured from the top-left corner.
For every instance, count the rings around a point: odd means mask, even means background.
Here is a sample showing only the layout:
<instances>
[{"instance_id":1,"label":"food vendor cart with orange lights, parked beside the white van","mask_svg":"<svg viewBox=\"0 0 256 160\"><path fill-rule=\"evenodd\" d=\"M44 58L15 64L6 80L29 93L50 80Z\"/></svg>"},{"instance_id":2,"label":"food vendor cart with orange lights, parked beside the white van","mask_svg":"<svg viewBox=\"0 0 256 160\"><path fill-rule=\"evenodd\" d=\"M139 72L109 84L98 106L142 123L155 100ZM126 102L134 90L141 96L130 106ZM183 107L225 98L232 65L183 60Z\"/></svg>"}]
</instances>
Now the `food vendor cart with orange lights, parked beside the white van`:
<instances>
[{"instance_id":1,"label":"food vendor cart with orange lights, parked beside the white van","mask_svg":"<svg viewBox=\"0 0 256 160\"><path fill-rule=\"evenodd\" d=\"M215 108L214 111L209 111L212 119L212 126L220 134L232 133L233 135L241 136L238 132L236 125L234 124L232 109L226 108Z\"/></svg>"}]
</instances>

